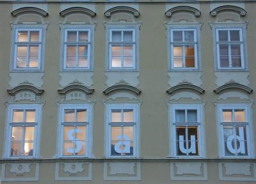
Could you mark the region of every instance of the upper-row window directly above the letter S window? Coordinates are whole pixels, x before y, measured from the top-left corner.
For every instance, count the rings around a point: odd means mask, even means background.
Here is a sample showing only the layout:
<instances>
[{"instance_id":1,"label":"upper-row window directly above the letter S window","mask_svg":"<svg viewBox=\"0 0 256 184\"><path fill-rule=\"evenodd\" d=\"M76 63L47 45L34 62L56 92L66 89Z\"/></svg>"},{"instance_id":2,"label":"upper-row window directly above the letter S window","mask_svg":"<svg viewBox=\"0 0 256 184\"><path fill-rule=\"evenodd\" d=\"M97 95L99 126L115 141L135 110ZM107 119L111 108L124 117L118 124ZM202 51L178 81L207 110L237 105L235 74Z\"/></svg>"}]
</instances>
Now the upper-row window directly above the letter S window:
<instances>
[{"instance_id":1,"label":"upper-row window directly above the letter S window","mask_svg":"<svg viewBox=\"0 0 256 184\"><path fill-rule=\"evenodd\" d=\"M89 29L66 29L64 41L64 68L89 69L91 45Z\"/></svg>"}]
</instances>

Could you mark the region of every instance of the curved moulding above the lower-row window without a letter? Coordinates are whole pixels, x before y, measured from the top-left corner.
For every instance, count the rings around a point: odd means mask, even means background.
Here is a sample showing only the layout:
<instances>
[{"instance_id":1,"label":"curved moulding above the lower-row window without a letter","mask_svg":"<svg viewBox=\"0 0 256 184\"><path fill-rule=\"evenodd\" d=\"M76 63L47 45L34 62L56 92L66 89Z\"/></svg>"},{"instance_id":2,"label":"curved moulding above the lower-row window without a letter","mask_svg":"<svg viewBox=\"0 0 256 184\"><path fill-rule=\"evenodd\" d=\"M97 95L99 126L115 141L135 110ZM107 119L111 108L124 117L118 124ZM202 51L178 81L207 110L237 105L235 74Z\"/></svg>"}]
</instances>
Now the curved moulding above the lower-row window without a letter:
<instances>
[{"instance_id":1,"label":"curved moulding above the lower-row window without a letter","mask_svg":"<svg viewBox=\"0 0 256 184\"><path fill-rule=\"evenodd\" d=\"M22 91L30 91L33 92L36 96L40 96L43 94L44 90L37 88L31 84L22 84L12 89L8 89L7 92L11 96L15 96L15 94L22 92Z\"/></svg>"}]
</instances>

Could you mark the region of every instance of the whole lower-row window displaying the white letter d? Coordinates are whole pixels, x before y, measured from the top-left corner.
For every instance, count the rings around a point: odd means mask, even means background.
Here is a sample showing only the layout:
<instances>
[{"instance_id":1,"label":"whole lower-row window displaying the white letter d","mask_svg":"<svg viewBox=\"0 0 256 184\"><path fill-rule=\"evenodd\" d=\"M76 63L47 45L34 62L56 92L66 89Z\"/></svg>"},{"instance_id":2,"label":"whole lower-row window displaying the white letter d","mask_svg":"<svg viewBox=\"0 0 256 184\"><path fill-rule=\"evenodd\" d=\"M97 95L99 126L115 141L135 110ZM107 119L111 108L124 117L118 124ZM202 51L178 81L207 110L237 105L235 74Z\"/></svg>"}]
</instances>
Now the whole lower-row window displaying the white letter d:
<instances>
[{"instance_id":1,"label":"whole lower-row window displaying the white letter d","mask_svg":"<svg viewBox=\"0 0 256 184\"><path fill-rule=\"evenodd\" d=\"M222 105L219 108L220 138L223 157L250 155L250 122L248 108L243 105Z\"/></svg>"}]
</instances>

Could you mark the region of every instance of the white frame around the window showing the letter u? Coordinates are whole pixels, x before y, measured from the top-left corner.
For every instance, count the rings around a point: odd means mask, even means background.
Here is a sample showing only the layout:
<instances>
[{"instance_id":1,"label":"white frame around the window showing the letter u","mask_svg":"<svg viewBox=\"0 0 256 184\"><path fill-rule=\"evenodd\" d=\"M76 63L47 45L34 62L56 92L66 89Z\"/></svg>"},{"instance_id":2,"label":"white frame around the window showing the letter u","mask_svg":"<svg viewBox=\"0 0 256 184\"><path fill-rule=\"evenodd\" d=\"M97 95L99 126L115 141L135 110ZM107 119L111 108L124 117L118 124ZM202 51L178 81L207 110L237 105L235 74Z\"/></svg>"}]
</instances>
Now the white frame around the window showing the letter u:
<instances>
[{"instance_id":1,"label":"white frame around the window showing the letter u","mask_svg":"<svg viewBox=\"0 0 256 184\"><path fill-rule=\"evenodd\" d=\"M176 125L175 122L175 110L197 110L197 118L200 122L198 124L189 124L198 126L198 155L177 155L176 147ZM170 156L179 158L202 158L205 153L205 141L204 141L204 104L202 103L180 103L170 104ZM185 124L184 124L185 125Z\"/></svg>"}]
</instances>

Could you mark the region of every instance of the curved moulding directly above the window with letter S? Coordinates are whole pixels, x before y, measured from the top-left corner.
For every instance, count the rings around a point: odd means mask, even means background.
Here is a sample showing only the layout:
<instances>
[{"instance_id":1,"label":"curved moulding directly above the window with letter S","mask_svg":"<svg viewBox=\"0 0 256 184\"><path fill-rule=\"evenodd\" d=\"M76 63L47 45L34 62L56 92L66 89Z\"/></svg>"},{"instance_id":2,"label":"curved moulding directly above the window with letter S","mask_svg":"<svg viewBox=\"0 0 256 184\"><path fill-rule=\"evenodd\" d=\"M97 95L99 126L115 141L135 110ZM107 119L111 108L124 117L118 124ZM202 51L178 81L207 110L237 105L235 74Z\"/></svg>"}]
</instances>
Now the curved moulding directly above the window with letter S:
<instances>
[{"instance_id":1,"label":"curved moulding directly above the window with letter S","mask_svg":"<svg viewBox=\"0 0 256 184\"><path fill-rule=\"evenodd\" d=\"M58 90L60 95L65 95L68 92L72 91L81 91L84 92L86 95L90 96L93 93L94 89L90 89L82 85L81 83L71 83L70 85L67 85L66 87Z\"/></svg>"}]
</instances>

